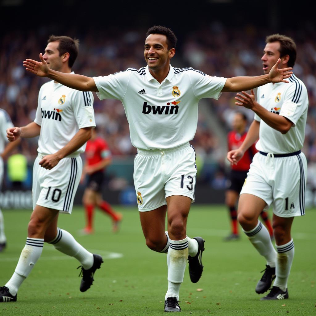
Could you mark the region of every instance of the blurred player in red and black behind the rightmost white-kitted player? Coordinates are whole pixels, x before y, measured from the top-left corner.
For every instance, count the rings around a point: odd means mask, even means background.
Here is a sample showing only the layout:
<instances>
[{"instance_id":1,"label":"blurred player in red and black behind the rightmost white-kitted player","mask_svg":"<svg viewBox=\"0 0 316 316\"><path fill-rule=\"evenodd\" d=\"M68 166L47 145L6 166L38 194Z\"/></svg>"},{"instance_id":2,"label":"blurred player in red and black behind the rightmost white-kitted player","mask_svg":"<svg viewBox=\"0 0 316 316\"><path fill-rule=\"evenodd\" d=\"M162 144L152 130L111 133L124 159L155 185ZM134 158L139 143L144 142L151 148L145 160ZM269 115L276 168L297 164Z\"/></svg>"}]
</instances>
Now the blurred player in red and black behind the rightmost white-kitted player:
<instances>
[{"instance_id":1,"label":"blurred player in red and black behind the rightmost white-kitted player","mask_svg":"<svg viewBox=\"0 0 316 316\"><path fill-rule=\"evenodd\" d=\"M228 133L228 151L239 148L240 145L243 143L247 135L246 126L246 115L241 112L236 112L233 119L233 131ZM230 235L224 238L225 241L239 239L236 202L238 200L241 188L247 177L247 172L252 162L252 157L257 152L255 145L256 144L254 143L251 147L249 147L249 149L245 152L245 155L243 155L242 159L240 159L237 165L231 165L229 175L231 183L226 191L225 203L228 206L230 213L232 232ZM268 218L268 213L263 211L260 215L265 222L270 237L273 238L273 230L271 227L270 220Z\"/></svg>"}]
</instances>

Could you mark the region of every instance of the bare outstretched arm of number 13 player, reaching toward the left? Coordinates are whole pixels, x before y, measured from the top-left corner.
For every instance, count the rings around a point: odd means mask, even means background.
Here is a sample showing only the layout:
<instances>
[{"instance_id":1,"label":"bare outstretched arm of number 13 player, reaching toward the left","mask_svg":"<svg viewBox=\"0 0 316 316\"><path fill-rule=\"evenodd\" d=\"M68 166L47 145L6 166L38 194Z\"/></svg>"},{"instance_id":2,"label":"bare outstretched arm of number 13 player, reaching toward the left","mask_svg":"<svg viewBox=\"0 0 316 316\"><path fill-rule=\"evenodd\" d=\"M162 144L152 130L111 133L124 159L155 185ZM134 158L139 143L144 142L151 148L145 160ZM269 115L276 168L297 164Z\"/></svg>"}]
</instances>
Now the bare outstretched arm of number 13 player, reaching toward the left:
<instances>
[{"instance_id":1,"label":"bare outstretched arm of number 13 player, reaching toward the left","mask_svg":"<svg viewBox=\"0 0 316 316\"><path fill-rule=\"evenodd\" d=\"M36 76L48 77L69 88L79 91L98 91L93 78L76 74L66 74L64 72L49 69L42 53L40 53L40 60L41 62L33 59L26 59L23 61L23 66L27 71Z\"/></svg>"}]
</instances>

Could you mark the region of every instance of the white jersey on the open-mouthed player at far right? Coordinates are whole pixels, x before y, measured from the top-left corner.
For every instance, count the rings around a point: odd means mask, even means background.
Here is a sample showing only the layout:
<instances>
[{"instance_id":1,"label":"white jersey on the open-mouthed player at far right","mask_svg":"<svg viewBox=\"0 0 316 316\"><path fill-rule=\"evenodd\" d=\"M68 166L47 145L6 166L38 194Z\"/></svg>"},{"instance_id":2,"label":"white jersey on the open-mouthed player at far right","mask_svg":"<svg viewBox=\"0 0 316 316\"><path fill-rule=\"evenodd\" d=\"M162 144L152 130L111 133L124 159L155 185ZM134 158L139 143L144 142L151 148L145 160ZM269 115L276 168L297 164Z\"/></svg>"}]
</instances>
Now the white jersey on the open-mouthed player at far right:
<instances>
[{"instance_id":1,"label":"white jersey on the open-mouthed player at far right","mask_svg":"<svg viewBox=\"0 0 316 316\"><path fill-rule=\"evenodd\" d=\"M304 83L294 74L289 83L267 83L257 90L257 102L272 113L289 119L293 126L286 134L273 129L255 114L260 122L256 148L266 153L288 154L300 150L304 144L308 96Z\"/></svg>"}]
</instances>

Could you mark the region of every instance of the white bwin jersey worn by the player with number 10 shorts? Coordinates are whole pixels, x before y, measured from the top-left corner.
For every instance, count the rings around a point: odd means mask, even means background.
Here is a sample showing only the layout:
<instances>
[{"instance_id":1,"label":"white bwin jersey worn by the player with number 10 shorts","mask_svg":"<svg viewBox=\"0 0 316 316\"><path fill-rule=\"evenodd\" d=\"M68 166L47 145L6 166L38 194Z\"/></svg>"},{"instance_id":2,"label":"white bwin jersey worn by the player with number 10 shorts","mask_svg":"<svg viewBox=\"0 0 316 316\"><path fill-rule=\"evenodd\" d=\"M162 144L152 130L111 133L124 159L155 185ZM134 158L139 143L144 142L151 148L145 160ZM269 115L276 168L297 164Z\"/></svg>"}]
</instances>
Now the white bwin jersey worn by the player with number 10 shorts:
<instances>
[{"instance_id":1,"label":"white bwin jersey worn by the player with number 10 shorts","mask_svg":"<svg viewBox=\"0 0 316 316\"><path fill-rule=\"evenodd\" d=\"M73 72L72 72L73 73ZM42 85L34 122L41 126L38 152L54 154L79 129L95 126L93 94L68 88L53 80ZM86 144L72 153L83 153Z\"/></svg>"}]
</instances>

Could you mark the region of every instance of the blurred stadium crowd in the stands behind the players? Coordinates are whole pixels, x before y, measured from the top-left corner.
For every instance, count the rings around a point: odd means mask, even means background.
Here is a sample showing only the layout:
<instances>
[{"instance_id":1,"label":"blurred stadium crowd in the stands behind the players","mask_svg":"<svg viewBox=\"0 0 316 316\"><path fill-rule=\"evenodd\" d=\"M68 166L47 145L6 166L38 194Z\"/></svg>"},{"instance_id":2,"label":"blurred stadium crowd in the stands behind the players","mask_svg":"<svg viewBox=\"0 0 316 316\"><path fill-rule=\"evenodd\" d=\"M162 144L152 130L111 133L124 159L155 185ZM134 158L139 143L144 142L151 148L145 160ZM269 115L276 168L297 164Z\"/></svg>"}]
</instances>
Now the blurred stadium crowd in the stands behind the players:
<instances>
[{"instance_id":1,"label":"blurred stadium crowd in the stands behind the players","mask_svg":"<svg viewBox=\"0 0 316 316\"><path fill-rule=\"evenodd\" d=\"M129 67L145 66L143 60L143 39L146 30L91 29L68 34L80 40L80 52L74 71L87 76L104 76L125 70ZM271 33L271 32L268 32ZM219 22L196 29L184 36L177 47L177 58L172 61L175 67L190 66L212 76L256 76L262 74L258 57L265 46L266 30L247 26L244 29L225 27ZM282 33L282 30L279 31ZM46 29L11 31L3 35L0 42L0 107L6 110L15 126L33 121L37 107L38 91L47 81L27 74L22 66L23 60L38 59L45 47L49 33ZM61 35L56 33L55 35ZM316 32L313 28L290 31L297 43L298 56L294 73L306 85L309 97L309 110L306 138L303 151L309 161L308 181L316 189ZM118 40L119 39L119 40ZM180 51L180 52L179 52ZM216 113L225 130L230 129L236 110L234 94L222 94L218 101L207 99L211 110ZM239 109L240 110L240 109ZM244 110L244 109L241 109ZM113 156L134 155L129 136L129 126L124 108L118 100L100 101L94 94L96 124ZM251 111L246 112L252 120ZM225 157L218 154L223 146L214 131L210 130L207 118L199 116L197 133L191 142L201 156L208 157L218 166L223 165ZM226 144L225 144L226 146ZM21 150L29 161L33 161L37 149L37 139L21 142ZM211 174L216 173L216 170Z\"/></svg>"}]
</instances>

